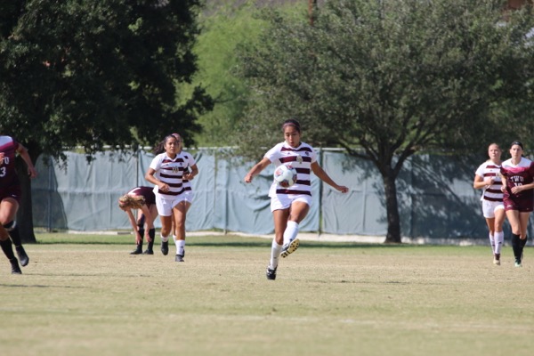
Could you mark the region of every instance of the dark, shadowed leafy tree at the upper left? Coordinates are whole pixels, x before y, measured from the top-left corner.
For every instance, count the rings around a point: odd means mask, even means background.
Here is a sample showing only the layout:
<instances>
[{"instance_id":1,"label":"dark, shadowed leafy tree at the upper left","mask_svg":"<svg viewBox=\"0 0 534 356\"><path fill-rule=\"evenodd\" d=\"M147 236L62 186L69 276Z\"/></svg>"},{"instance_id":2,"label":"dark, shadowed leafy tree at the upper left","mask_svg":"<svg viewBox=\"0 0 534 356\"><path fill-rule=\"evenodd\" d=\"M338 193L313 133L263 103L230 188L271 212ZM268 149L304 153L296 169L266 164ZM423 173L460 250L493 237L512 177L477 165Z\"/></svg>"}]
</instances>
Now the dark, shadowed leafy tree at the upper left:
<instances>
[{"instance_id":1,"label":"dark, shadowed leafy tree at the upper left","mask_svg":"<svg viewBox=\"0 0 534 356\"><path fill-rule=\"evenodd\" d=\"M212 102L201 87L177 85L197 70L200 0L17 1L0 4L0 131L64 158L111 145L136 150L171 131L186 141ZM180 102L177 104L176 102ZM29 185L23 186L28 196ZM31 214L30 206L20 212ZM35 241L31 215L18 216Z\"/></svg>"}]
</instances>

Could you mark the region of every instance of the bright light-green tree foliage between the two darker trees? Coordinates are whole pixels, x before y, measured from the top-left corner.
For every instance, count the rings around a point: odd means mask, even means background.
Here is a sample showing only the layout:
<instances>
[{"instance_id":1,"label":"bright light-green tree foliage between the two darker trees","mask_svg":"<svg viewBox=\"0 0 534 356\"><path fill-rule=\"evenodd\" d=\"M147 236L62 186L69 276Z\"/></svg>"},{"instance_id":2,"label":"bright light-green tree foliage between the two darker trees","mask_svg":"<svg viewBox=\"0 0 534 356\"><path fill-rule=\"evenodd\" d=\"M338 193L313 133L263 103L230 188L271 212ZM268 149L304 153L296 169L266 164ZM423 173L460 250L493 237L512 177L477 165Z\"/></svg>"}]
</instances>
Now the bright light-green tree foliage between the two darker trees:
<instances>
[{"instance_id":1,"label":"bright light-green tree foliage between the two darker trees","mask_svg":"<svg viewBox=\"0 0 534 356\"><path fill-rule=\"evenodd\" d=\"M214 109L198 119L202 125L202 131L195 136L199 145L235 145L231 133L243 113L247 88L232 75L231 68L236 62L236 45L257 40L262 22L253 13L253 4L214 2L200 16L202 33L194 49L198 72L192 85L205 85L206 92L214 98Z\"/></svg>"}]
</instances>

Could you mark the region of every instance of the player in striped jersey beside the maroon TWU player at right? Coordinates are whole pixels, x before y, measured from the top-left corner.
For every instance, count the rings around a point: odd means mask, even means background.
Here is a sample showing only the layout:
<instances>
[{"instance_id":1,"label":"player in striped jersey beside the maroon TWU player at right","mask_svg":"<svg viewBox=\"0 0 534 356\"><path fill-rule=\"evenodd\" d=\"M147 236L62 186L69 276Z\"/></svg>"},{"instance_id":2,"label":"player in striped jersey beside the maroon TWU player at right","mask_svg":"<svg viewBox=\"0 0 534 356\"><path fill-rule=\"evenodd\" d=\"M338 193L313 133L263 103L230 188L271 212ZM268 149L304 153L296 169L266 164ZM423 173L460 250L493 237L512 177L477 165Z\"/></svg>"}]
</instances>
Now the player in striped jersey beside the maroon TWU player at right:
<instances>
[{"instance_id":1,"label":"player in striped jersey beside the maroon TWU player at right","mask_svg":"<svg viewBox=\"0 0 534 356\"><path fill-rule=\"evenodd\" d=\"M481 202L482 214L490 229L490 246L493 252L493 263L500 264L500 251L505 241L503 223L505 223L505 206L501 191L500 166L502 150L497 143L488 147L488 159L474 173L473 188L483 189Z\"/></svg>"}]
</instances>

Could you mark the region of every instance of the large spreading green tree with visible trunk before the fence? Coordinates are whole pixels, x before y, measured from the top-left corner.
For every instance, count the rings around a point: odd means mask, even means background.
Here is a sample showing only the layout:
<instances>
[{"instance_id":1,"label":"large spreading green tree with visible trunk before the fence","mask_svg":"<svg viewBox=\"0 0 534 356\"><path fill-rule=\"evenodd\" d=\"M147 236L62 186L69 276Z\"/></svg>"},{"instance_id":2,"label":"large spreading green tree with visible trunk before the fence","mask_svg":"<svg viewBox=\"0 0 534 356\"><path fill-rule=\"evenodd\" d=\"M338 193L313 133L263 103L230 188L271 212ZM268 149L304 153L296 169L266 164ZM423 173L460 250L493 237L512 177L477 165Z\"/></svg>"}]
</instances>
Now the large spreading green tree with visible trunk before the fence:
<instances>
[{"instance_id":1,"label":"large spreading green tree with visible trunk before the fence","mask_svg":"<svg viewBox=\"0 0 534 356\"><path fill-rule=\"evenodd\" d=\"M478 151L532 127L534 45L525 35L534 14L503 9L502 1L332 0L313 26L266 11L262 45L239 54L237 72L254 95L239 125L241 153L258 155L279 141L272 133L282 118L299 118L306 142L376 166L385 242L400 243L396 178L407 158Z\"/></svg>"}]
</instances>

